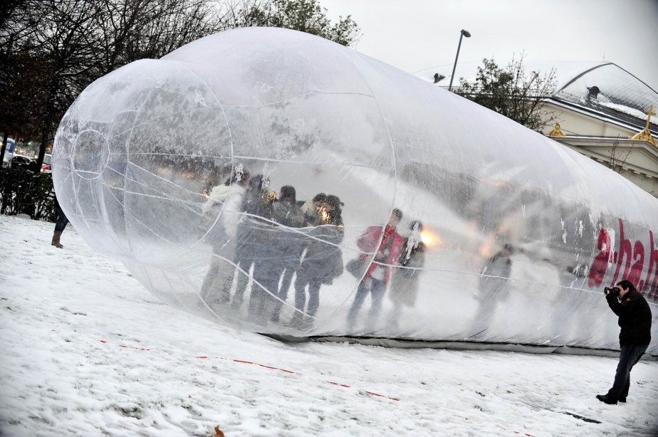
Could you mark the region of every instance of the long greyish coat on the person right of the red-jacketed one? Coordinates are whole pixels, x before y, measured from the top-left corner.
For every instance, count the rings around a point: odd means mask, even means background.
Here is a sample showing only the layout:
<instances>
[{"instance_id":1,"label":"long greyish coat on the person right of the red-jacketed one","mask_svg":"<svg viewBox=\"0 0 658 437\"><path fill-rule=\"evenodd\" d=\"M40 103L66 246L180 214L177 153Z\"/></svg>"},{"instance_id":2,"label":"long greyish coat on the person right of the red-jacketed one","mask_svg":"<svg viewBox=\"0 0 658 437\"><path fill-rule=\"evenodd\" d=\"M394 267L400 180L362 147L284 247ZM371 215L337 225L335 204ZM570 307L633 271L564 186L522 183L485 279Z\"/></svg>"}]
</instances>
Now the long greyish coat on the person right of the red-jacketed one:
<instances>
[{"instance_id":1,"label":"long greyish coat on the person right of the red-jacketed one","mask_svg":"<svg viewBox=\"0 0 658 437\"><path fill-rule=\"evenodd\" d=\"M399 254L399 265L395 268L391 279L388 297L392 302L407 307L416 305L418 295L418 278L425 263L425 245L422 241L404 240Z\"/></svg>"}]
</instances>

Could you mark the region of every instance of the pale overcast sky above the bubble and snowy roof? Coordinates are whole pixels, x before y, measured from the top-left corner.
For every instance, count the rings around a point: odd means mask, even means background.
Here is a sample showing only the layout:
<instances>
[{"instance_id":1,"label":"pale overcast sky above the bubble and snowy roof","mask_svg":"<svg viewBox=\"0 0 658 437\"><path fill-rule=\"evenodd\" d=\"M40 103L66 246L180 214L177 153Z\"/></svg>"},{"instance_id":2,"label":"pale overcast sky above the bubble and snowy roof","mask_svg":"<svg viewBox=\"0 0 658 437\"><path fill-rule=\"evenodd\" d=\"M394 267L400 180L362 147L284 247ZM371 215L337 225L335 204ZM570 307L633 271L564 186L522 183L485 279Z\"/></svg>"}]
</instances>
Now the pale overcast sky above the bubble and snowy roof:
<instances>
[{"instance_id":1,"label":"pale overcast sky above the bubble and snowy roof","mask_svg":"<svg viewBox=\"0 0 658 437\"><path fill-rule=\"evenodd\" d=\"M658 91L658 0L320 0L330 19L352 15L356 50L417 73L459 62L610 60ZM473 64L474 65L474 64ZM459 78L459 70L456 73ZM456 80L455 80L456 82ZM657 102L658 105L658 102Z\"/></svg>"}]
</instances>

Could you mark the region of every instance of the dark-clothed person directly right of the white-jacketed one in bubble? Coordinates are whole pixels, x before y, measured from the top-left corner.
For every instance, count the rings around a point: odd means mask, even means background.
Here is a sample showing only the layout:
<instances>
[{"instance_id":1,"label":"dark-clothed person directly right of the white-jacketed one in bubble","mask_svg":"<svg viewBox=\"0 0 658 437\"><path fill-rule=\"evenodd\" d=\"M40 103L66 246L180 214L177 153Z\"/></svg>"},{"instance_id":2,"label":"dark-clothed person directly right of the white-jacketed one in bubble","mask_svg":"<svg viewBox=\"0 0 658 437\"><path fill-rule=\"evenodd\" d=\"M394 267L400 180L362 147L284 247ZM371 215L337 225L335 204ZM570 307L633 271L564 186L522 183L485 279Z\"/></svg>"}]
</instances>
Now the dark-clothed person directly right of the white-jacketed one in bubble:
<instances>
[{"instance_id":1,"label":"dark-clothed person directly right of the white-jacketed one in bubble","mask_svg":"<svg viewBox=\"0 0 658 437\"><path fill-rule=\"evenodd\" d=\"M256 174L249 179L249 186L244 192L241 204L241 217L236 231L236 251L234 262L237 266L237 285L231 305L235 308L241 307L244 301L244 292L249 283L249 274L252 265L260 260L260 252L268 243L266 230L271 226L272 219L272 196L269 191L269 179L262 174ZM256 269L254 269L256 270ZM258 280L254 278L254 280ZM226 278L223 290L230 290L233 278ZM260 282L260 281L258 281ZM256 290L256 293L253 293ZM259 295L260 286L254 284L252 287L252 298L254 304ZM252 305L254 305L252 304ZM253 310L253 307L252 307Z\"/></svg>"}]
</instances>

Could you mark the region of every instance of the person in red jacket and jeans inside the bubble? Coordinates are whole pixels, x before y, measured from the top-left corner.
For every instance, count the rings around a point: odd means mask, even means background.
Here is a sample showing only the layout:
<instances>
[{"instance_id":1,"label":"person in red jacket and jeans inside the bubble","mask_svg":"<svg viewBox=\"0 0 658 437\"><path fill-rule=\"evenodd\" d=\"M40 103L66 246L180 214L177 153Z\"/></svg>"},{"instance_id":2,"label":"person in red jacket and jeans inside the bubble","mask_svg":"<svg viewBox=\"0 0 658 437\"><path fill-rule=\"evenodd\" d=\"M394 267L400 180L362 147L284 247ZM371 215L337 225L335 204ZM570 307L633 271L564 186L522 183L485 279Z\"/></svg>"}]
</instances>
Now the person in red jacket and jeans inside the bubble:
<instances>
[{"instance_id":1,"label":"person in red jacket and jeans inside the bubble","mask_svg":"<svg viewBox=\"0 0 658 437\"><path fill-rule=\"evenodd\" d=\"M357 240L357 246L361 250L360 260L366 261L370 253L375 252L375 258L365 271L365 275L357 288L357 293L348 313L348 331L353 332L357 315L370 294L372 305L368 312L367 327L374 331L377 317L379 317L382 308L382 300L386 291L386 285L391 277L391 265L397 265L399 253L404 241L402 236L397 233L397 225L402 220L402 211L393 209L389 221L384 226L370 226ZM382 235L383 232L383 235ZM377 246L379 243L379 246Z\"/></svg>"}]
</instances>

